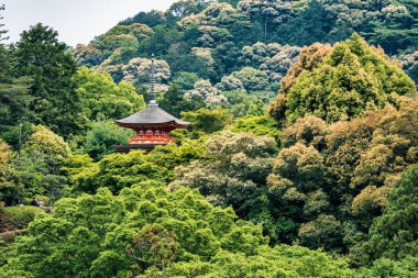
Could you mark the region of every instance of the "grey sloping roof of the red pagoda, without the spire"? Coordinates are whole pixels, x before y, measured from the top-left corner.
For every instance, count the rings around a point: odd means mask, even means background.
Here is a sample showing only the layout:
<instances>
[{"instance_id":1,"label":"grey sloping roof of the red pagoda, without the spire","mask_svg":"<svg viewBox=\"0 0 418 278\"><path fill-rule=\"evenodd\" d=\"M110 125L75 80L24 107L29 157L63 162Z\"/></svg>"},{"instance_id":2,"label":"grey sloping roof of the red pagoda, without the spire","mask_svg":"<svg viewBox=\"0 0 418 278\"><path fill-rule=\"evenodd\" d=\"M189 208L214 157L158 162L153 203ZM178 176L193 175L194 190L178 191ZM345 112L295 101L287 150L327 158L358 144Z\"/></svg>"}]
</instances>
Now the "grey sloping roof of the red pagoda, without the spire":
<instances>
[{"instance_id":1,"label":"grey sloping roof of the red pagoda, without the spire","mask_svg":"<svg viewBox=\"0 0 418 278\"><path fill-rule=\"evenodd\" d=\"M128 118L116 120L117 124L122 126L135 125L175 125L176 127L187 127L190 123L178 120L170 115L157 104L148 104L145 109Z\"/></svg>"}]
</instances>

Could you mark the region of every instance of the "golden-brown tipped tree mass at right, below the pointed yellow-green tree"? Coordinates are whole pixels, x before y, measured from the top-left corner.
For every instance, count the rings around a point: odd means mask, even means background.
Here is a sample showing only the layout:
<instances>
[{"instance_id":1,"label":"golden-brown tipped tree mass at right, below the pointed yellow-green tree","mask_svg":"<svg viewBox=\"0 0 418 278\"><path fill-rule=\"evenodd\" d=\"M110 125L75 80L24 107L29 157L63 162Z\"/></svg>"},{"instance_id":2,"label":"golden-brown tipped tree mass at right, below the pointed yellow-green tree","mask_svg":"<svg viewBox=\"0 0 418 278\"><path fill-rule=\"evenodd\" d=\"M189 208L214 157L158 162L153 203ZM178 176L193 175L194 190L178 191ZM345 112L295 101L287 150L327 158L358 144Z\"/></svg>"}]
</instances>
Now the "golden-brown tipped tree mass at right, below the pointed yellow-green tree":
<instances>
[{"instance_id":1,"label":"golden-brown tipped tree mass at right, below the pointed yellow-green tree","mask_svg":"<svg viewBox=\"0 0 418 278\"><path fill-rule=\"evenodd\" d=\"M282 130L283 148L267 179L270 212L279 215L278 238L350 252L354 265L367 262L361 246L373 219L388 205L403 171L417 162L417 133L410 129L417 101L403 97L397 103L398 110L331 125L307 115Z\"/></svg>"}]
</instances>

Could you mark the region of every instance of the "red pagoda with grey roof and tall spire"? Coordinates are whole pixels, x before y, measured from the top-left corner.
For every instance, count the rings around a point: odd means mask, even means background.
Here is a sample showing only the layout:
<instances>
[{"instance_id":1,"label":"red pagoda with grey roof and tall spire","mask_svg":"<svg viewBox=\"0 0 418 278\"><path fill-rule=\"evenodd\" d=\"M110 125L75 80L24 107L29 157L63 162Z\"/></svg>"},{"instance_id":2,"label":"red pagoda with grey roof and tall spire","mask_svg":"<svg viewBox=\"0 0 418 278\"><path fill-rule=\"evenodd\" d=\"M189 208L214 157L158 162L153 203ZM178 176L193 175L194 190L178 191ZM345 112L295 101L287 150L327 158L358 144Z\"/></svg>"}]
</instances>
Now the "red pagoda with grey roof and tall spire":
<instances>
[{"instance_id":1,"label":"red pagoda with grey roof and tall spire","mask_svg":"<svg viewBox=\"0 0 418 278\"><path fill-rule=\"evenodd\" d=\"M131 149L144 149L151 152L155 146L164 146L176 143L169 136L169 132L176 129L185 129L190 123L178 120L158 107L155 101L155 65L154 55L151 63L151 89L150 102L145 109L128 118L116 120L116 124L135 131L135 136L129 138L128 145L116 146L116 152L129 153Z\"/></svg>"}]
</instances>

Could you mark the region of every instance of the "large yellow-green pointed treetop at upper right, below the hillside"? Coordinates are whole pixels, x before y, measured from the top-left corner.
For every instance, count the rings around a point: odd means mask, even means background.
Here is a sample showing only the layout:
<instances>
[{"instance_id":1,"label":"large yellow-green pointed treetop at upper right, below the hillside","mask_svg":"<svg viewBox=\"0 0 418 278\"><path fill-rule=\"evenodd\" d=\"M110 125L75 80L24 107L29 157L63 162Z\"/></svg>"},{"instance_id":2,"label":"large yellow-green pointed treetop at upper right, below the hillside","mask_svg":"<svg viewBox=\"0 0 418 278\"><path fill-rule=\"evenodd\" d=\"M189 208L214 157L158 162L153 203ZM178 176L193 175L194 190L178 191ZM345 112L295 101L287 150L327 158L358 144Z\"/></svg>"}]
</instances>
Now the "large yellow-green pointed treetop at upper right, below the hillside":
<instances>
[{"instance_id":1,"label":"large yellow-green pointed treetop at upper right, below the hillside","mask_svg":"<svg viewBox=\"0 0 418 278\"><path fill-rule=\"evenodd\" d=\"M382 54L367 46L358 34L338 43L321 63L295 75L289 70L288 87L282 87L271 114L280 123L294 123L314 114L327 122L349 120L365 110L394 103L396 96L416 90L405 73ZM296 71L297 73L297 71Z\"/></svg>"}]
</instances>

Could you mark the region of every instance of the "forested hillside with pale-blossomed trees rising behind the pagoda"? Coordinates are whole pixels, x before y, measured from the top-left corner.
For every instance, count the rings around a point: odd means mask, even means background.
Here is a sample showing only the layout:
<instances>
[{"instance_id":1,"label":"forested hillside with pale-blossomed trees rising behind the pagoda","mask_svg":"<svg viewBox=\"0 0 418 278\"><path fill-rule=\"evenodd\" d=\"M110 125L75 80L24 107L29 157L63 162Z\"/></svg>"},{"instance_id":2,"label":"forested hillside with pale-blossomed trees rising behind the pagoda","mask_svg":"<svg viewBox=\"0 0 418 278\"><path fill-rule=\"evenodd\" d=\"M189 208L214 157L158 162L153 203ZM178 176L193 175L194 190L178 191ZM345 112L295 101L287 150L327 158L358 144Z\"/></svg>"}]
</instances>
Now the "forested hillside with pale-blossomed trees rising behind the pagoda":
<instances>
[{"instance_id":1,"label":"forested hillside with pale-blossomed trees rising behind the pagoda","mask_svg":"<svg viewBox=\"0 0 418 278\"><path fill-rule=\"evenodd\" d=\"M358 32L399 58L416 78L410 63L418 47L414 0L258 2L178 1L166 12L141 12L120 22L77 46L74 55L79 65L111 73L117 81L146 82L141 65L155 53L163 84L187 71L221 90L275 91L299 47L333 44ZM270 86L242 84L246 73L261 79L267 75Z\"/></svg>"}]
</instances>

